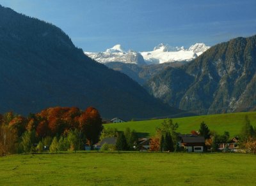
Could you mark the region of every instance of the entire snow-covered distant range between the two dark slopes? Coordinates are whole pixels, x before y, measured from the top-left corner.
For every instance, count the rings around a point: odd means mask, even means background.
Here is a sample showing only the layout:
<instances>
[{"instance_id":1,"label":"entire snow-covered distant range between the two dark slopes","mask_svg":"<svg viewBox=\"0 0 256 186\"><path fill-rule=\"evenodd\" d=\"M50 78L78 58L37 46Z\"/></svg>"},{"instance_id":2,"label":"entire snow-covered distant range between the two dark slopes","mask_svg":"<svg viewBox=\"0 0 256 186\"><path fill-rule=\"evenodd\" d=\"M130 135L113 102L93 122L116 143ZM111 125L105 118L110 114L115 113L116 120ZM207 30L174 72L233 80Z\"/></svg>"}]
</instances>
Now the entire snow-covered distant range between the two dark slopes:
<instances>
[{"instance_id":1,"label":"entire snow-covered distant range between the two dark slopes","mask_svg":"<svg viewBox=\"0 0 256 186\"><path fill-rule=\"evenodd\" d=\"M115 45L105 52L84 52L84 54L104 64L108 62L124 62L145 65L191 61L209 48L204 43L196 43L188 49L184 47L171 47L161 43L150 52L134 52L133 50L125 52L121 45Z\"/></svg>"}]
</instances>

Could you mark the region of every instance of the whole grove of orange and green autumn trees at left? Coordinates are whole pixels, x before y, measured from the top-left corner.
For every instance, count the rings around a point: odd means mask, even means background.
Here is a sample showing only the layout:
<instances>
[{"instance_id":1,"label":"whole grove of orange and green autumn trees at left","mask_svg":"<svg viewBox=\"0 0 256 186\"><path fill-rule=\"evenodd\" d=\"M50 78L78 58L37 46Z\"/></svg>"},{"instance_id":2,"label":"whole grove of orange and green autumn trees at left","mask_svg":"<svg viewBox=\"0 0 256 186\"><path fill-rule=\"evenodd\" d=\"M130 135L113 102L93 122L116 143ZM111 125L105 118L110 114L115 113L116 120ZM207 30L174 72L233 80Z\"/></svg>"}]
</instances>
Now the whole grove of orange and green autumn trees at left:
<instances>
[{"instance_id":1,"label":"whole grove of orange and green autumn trees at left","mask_svg":"<svg viewBox=\"0 0 256 186\"><path fill-rule=\"evenodd\" d=\"M99 141L102 118L99 111L88 107L55 107L29 114L12 112L0 115L0 155L51 151L81 150Z\"/></svg>"}]
</instances>

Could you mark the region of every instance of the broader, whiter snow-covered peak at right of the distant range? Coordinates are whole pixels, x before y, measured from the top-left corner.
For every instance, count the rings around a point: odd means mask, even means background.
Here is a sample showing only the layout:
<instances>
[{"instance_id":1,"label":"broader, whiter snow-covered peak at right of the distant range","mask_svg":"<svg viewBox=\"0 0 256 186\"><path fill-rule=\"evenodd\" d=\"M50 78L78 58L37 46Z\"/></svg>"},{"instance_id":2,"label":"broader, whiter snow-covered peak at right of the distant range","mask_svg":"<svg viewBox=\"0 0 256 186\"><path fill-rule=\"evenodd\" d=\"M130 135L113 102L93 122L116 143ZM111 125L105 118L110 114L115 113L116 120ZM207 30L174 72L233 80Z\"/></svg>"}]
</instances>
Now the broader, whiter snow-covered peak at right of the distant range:
<instances>
[{"instance_id":1,"label":"broader, whiter snow-covered peak at right of the distant range","mask_svg":"<svg viewBox=\"0 0 256 186\"><path fill-rule=\"evenodd\" d=\"M170 47L161 43L154 47L153 51L140 52L147 64L159 64L164 62L191 61L208 50L204 43L196 43L188 49L184 47Z\"/></svg>"}]
</instances>

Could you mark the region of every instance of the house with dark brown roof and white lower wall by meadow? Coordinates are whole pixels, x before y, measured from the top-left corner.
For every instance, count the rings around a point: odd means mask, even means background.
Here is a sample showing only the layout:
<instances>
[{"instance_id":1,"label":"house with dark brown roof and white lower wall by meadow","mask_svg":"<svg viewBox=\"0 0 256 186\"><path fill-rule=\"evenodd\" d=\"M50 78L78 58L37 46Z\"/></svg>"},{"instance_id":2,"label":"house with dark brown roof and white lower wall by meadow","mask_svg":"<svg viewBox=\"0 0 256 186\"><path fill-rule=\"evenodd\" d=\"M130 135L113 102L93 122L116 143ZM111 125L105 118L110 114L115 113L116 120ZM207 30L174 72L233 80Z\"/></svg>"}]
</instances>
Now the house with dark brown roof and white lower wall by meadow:
<instances>
[{"instance_id":1,"label":"house with dark brown roof and white lower wall by meadow","mask_svg":"<svg viewBox=\"0 0 256 186\"><path fill-rule=\"evenodd\" d=\"M180 145L188 152L204 152L205 138L204 136L196 136L193 134L180 135Z\"/></svg>"}]
</instances>

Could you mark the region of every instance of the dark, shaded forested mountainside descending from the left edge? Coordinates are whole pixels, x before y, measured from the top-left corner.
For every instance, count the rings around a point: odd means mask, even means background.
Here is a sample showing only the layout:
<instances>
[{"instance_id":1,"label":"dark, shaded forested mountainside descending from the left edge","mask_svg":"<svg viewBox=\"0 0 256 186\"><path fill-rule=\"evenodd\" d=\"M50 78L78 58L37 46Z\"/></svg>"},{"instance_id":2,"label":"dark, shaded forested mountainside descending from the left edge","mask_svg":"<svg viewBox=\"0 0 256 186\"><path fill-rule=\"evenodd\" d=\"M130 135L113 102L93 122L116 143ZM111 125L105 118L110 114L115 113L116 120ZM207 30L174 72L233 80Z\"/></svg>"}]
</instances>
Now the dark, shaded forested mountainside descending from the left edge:
<instances>
[{"instance_id":1,"label":"dark, shaded forested mountainside descending from the left edge","mask_svg":"<svg viewBox=\"0 0 256 186\"><path fill-rule=\"evenodd\" d=\"M94 106L102 117L149 118L180 111L74 47L58 27L0 6L0 112Z\"/></svg>"}]
</instances>

